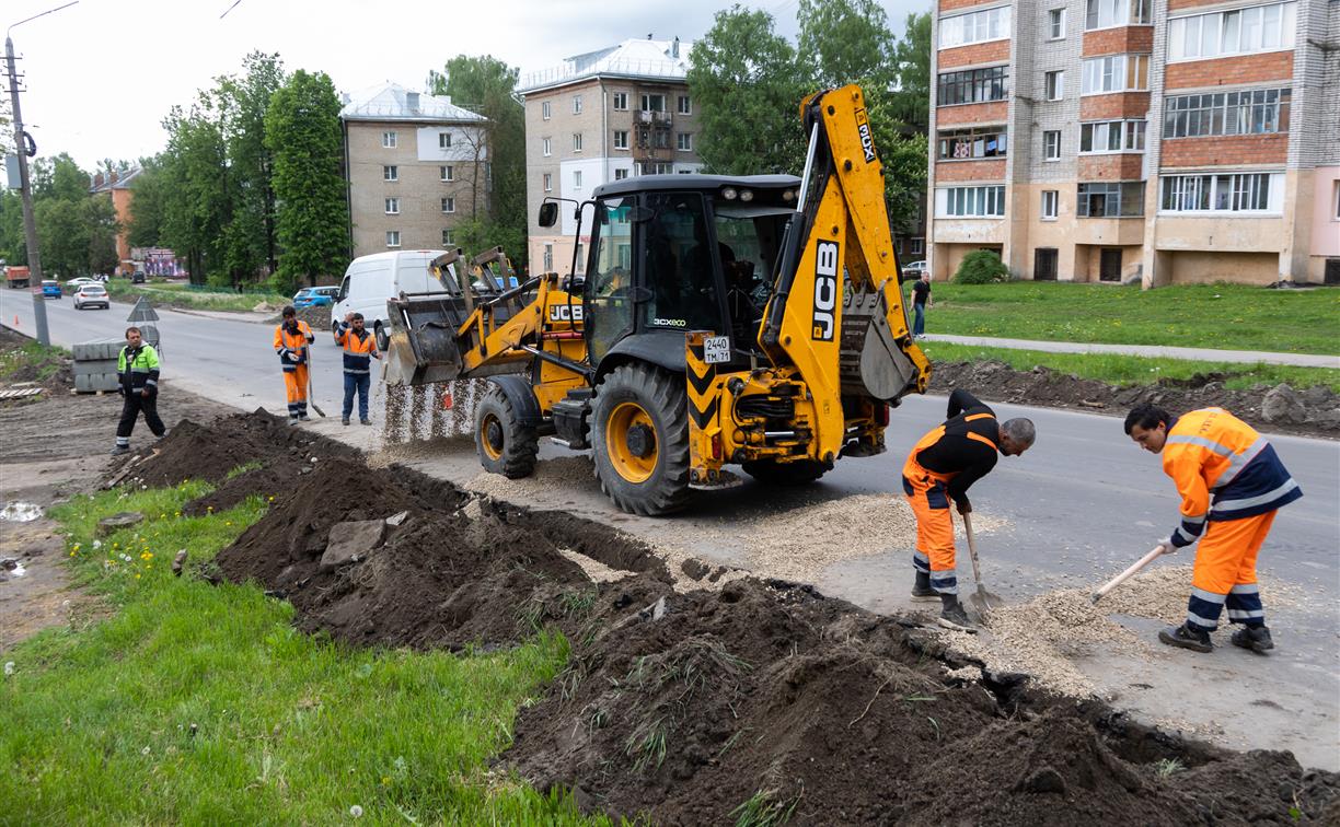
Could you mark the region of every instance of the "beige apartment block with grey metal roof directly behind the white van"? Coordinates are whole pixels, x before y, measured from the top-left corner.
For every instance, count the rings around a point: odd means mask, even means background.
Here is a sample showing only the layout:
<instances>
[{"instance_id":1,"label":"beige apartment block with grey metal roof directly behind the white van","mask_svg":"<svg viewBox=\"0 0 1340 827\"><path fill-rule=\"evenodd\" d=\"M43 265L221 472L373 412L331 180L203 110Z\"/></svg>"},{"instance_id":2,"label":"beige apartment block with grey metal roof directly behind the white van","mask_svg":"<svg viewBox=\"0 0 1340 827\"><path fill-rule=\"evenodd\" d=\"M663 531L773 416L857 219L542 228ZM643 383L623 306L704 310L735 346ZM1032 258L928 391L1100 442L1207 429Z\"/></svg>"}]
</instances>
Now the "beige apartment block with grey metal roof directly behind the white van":
<instances>
[{"instance_id":1,"label":"beige apartment block with grey metal roof directly behind the white van","mask_svg":"<svg viewBox=\"0 0 1340 827\"><path fill-rule=\"evenodd\" d=\"M340 120L352 256L448 248L488 209L482 115L387 83L344 95Z\"/></svg>"}]
</instances>

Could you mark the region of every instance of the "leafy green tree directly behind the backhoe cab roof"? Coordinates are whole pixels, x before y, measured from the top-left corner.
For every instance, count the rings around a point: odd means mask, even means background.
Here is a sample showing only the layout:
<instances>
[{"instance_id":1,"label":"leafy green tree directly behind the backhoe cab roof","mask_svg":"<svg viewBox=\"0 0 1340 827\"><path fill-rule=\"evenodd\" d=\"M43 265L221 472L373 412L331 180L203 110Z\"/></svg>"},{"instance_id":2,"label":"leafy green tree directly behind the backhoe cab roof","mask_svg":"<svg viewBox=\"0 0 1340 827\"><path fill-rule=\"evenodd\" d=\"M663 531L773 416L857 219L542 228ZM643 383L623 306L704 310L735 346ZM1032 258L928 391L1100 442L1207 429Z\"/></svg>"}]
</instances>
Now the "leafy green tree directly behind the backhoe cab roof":
<instances>
[{"instance_id":1,"label":"leafy green tree directly behind the backhoe cab roof","mask_svg":"<svg viewBox=\"0 0 1340 827\"><path fill-rule=\"evenodd\" d=\"M797 112L807 79L772 15L738 4L717 12L694 44L687 80L701 112L698 155L709 171L800 171L805 136Z\"/></svg>"}]
</instances>

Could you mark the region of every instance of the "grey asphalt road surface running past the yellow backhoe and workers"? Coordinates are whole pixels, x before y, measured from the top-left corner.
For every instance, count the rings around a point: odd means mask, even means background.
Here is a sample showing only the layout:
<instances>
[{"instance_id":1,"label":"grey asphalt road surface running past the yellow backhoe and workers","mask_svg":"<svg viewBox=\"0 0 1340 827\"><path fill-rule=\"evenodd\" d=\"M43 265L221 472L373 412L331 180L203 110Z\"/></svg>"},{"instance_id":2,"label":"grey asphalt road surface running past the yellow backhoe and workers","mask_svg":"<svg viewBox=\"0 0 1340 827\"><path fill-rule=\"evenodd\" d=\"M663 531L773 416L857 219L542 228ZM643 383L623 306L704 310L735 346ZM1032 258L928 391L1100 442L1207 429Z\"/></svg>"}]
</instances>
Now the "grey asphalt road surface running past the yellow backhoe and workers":
<instances>
[{"instance_id":1,"label":"grey asphalt road surface running past the yellow backhoe and workers","mask_svg":"<svg viewBox=\"0 0 1340 827\"><path fill-rule=\"evenodd\" d=\"M68 298L50 302L52 341L70 345L121 339L129 309L118 304L110 312L76 312ZM158 313L168 380L165 409L172 405L172 387L180 385L244 409L284 411L280 365L271 348L272 325ZM0 290L0 320L15 327L15 316L17 328L31 335L28 294ZM318 331L316 400L332 416L339 414L339 361L330 332ZM374 404L374 419L379 420L378 407ZM1119 419L1010 404L993 407L1001 416L1032 418L1038 440L1021 458L1002 458L997 470L973 488L977 511L1009 521L1006 529L982 538L982 574L992 590L1018 601L1056 587L1093 583L1138 559L1177 525L1172 483L1156 456L1124 436ZM904 400L886 434L891 451L874 459L840 462L805 490L804 500L779 498L772 490L748 483L714 494L691 515L673 519L622 514L599 494L580 491L524 504L561 509L654 542L673 541L712 561L738 565L744 562L741 546L729 537L733 514L804 507L817 498L896 492L906 446L943 416L943 397ZM360 447L375 447L375 432L381 431L342 428L335 419L311 427L363 443ZM1281 513L1260 558L1261 570L1290 585L1297 595L1290 605L1276 608L1265 595L1278 649L1268 658L1231 648L1199 657L1166 650L1152 661L1092 657L1083 666L1100 689L1120 696L1120 705L1151 720L1218 727L1225 735L1217 740L1227 745L1288 748L1305 765L1340 769L1340 443L1285 435L1270 439L1305 491L1301 500ZM547 440L543 444L541 458L567 454ZM469 446L413 464L458 484L480 474ZM871 537L870 542L880 539ZM910 609L909 557L909 549L888 549L848 561L823 571L816 585L876 612ZM1174 562L1190 559L1191 553L1185 553L1185 559ZM1128 625L1144 636L1156 632L1140 621Z\"/></svg>"}]
</instances>

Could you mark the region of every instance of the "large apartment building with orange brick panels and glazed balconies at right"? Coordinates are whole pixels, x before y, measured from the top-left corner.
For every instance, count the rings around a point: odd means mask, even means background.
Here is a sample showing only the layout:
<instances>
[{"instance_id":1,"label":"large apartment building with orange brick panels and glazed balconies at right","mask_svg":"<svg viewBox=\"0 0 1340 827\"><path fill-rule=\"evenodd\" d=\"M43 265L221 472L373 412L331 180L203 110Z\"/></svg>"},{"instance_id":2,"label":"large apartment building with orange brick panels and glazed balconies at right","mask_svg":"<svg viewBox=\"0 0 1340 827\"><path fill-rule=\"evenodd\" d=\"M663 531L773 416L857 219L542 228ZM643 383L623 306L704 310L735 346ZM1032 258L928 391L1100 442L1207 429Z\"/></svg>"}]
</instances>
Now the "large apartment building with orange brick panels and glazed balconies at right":
<instances>
[{"instance_id":1,"label":"large apartment building with orange brick panels and glazed balconies at right","mask_svg":"<svg viewBox=\"0 0 1340 827\"><path fill-rule=\"evenodd\" d=\"M1340 1L938 0L930 268L1340 284Z\"/></svg>"}]
</instances>

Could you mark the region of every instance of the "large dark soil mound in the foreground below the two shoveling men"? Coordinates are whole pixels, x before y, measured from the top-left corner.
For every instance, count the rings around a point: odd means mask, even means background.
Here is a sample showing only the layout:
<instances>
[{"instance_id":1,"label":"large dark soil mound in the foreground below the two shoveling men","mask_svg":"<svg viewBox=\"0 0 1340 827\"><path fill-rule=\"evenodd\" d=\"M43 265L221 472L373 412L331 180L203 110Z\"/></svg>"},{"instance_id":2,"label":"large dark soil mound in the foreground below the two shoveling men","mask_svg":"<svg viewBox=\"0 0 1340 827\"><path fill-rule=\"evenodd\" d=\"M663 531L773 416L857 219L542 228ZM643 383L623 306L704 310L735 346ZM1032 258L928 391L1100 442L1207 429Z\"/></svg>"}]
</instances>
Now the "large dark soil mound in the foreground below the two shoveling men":
<instances>
[{"instance_id":1,"label":"large dark soil mound in the foreground below the two shoveling men","mask_svg":"<svg viewBox=\"0 0 1340 827\"><path fill-rule=\"evenodd\" d=\"M963 682L925 630L773 581L671 595L578 646L505 760L657 823L1246 823L1340 812L1340 776ZM1185 775L1183 775L1185 773Z\"/></svg>"}]
</instances>

